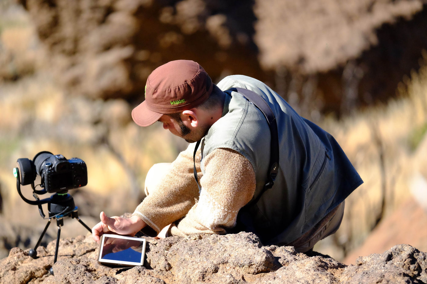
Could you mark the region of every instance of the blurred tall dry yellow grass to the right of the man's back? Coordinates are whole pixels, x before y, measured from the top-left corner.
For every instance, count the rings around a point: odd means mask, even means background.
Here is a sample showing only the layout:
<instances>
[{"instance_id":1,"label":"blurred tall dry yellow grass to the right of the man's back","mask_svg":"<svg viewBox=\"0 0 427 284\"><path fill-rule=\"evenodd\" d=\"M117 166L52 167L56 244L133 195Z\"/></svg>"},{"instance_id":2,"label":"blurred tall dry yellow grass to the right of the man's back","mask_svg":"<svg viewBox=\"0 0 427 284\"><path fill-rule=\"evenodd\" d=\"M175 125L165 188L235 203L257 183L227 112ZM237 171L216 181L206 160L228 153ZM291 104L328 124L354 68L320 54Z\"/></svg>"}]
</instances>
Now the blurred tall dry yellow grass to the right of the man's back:
<instances>
[{"instance_id":1,"label":"blurred tall dry yellow grass to the right of the man's back","mask_svg":"<svg viewBox=\"0 0 427 284\"><path fill-rule=\"evenodd\" d=\"M336 245L351 250L363 243L375 226L383 198L383 217L387 217L411 197L414 177L420 172L427 177L427 164L422 154L427 146L420 143L426 140L427 129L426 53L424 61L420 71L413 72L411 78L401 84L399 99L339 122L325 121L323 125L342 145L364 180L346 200L341 228L334 237L317 247L336 259L344 256ZM323 247L331 243L335 245Z\"/></svg>"}]
</instances>

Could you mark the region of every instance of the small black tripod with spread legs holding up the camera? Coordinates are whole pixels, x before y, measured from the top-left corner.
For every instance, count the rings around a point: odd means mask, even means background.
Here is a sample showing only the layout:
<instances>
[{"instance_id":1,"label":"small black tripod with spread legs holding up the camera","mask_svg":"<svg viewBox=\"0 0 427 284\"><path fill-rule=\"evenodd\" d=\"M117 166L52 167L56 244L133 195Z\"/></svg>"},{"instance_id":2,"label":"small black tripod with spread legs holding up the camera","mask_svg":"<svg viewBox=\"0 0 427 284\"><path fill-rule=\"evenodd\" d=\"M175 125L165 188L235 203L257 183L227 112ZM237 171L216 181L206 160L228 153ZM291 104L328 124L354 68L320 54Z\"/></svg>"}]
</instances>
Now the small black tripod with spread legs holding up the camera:
<instances>
[{"instance_id":1,"label":"small black tripod with spread legs holding up the camera","mask_svg":"<svg viewBox=\"0 0 427 284\"><path fill-rule=\"evenodd\" d=\"M58 226L58 232L56 234L56 247L55 247L55 258L53 259L53 263L56 263L58 259L58 247L59 247L59 237L61 235L61 226L64 226L64 217L71 217L73 219L77 219L80 224L82 224L89 232L92 232L91 228L89 228L82 220L79 218L78 208L74 205L73 197L66 194L53 194L50 197L50 201L47 202L47 209L49 211L49 221L47 221L46 226L44 227L43 232L38 238L38 241L34 247L34 249L29 250L29 256L32 258L37 257L37 248L40 245L41 239L49 228L50 222L52 219L56 219L56 226ZM51 267L49 270L50 274L53 275L53 268Z\"/></svg>"}]
</instances>

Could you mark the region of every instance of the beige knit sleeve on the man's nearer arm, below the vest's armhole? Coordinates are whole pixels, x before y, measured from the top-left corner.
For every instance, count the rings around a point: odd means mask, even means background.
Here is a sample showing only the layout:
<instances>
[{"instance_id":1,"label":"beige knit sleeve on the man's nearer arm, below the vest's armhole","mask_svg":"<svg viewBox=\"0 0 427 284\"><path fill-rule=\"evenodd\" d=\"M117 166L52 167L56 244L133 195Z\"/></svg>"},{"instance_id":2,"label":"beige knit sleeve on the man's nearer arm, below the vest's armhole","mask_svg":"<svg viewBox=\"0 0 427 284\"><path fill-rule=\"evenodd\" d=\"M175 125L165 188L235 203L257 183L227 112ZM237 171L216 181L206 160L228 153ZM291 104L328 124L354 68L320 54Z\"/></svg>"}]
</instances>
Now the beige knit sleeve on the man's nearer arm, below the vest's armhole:
<instances>
[{"instance_id":1,"label":"beige knit sleeve on the man's nearer arm, below the vest's armhole","mask_svg":"<svg viewBox=\"0 0 427 284\"><path fill-rule=\"evenodd\" d=\"M240 208L254 195L255 173L243 155L219 148L203 162L199 200L177 226L171 226L170 235L225 234L236 225Z\"/></svg>"}]
</instances>

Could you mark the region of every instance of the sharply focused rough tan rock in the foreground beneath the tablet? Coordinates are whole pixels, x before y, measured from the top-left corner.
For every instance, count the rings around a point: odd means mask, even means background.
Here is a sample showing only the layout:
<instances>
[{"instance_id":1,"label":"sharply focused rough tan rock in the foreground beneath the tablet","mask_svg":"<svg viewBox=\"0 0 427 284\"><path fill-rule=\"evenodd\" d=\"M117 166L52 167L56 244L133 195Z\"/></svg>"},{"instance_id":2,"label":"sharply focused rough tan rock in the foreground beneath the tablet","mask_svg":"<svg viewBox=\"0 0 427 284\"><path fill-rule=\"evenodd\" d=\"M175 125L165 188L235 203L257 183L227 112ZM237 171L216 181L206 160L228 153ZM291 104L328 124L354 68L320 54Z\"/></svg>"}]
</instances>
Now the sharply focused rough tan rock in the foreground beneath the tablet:
<instances>
[{"instance_id":1,"label":"sharply focused rough tan rock in the foreground beneath the tablet","mask_svg":"<svg viewBox=\"0 0 427 284\"><path fill-rule=\"evenodd\" d=\"M291 246L263 246L252 233L197 238L147 238L144 266L108 268L97 263L91 235L61 239L37 249L13 248L0 261L1 283L426 283L427 253L397 245L346 266L327 255L298 253Z\"/></svg>"}]
</instances>

